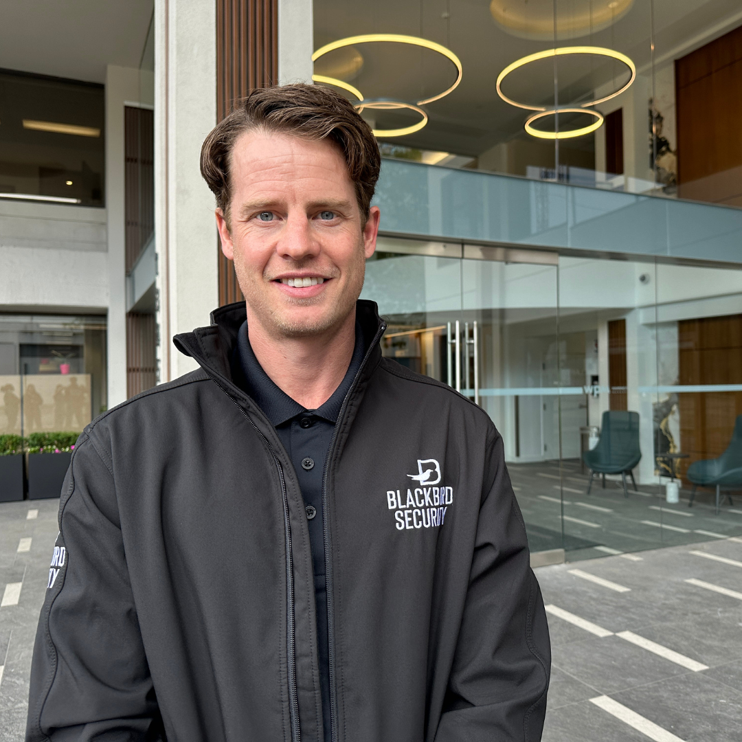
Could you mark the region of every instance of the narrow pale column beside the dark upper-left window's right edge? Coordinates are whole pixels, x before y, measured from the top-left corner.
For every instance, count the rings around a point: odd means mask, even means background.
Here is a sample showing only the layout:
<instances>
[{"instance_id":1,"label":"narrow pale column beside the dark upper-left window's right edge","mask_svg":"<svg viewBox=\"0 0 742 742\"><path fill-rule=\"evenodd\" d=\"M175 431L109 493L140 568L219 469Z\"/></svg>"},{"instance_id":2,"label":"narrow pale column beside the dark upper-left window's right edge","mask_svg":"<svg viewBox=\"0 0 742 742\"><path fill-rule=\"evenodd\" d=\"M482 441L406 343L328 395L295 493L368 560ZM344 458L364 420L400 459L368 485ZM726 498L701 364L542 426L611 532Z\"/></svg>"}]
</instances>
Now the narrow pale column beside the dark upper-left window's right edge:
<instances>
[{"instance_id":1,"label":"narrow pale column beside the dark upper-left window's right edge","mask_svg":"<svg viewBox=\"0 0 742 742\"><path fill-rule=\"evenodd\" d=\"M105 73L105 204L108 223L108 407L126 399L124 102L139 99L139 70Z\"/></svg>"}]
</instances>

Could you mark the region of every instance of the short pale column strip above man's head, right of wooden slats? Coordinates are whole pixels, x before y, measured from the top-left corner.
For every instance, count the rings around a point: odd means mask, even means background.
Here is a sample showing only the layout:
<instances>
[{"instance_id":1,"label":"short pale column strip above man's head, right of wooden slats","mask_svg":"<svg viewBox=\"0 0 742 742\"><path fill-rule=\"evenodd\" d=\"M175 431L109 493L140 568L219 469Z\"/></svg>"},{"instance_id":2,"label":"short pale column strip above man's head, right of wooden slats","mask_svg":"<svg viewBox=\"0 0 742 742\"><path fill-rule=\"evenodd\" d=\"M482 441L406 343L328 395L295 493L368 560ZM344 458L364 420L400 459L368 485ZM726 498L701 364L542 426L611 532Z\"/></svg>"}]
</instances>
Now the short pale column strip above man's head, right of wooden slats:
<instances>
[{"instance_id":1,"label":"short pale column strip above man's head, right of wooden slats","mask_svg":"<svg viewBox=\"0 0 742 742\"><path fill-rule=\"evenodd\" d=\"M312 82L312 0L278 0L278 84Z\"/></svg>"}]
</instances>

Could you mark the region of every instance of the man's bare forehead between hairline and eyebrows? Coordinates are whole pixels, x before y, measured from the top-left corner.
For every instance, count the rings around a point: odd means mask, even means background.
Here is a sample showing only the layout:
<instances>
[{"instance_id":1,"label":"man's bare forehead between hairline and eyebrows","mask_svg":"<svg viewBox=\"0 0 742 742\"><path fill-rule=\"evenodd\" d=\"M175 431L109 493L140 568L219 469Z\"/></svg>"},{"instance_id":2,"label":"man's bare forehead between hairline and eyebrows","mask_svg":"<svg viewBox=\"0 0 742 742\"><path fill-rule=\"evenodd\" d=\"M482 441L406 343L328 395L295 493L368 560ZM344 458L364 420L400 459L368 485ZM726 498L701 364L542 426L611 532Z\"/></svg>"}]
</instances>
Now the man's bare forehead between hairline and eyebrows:
<instances>
[{"instance_id":1,"label":"man's bare forehead between hairline and eyebrows","mask_svg":"<svg viewBox=\"0 0 742 742\"><path fill-rule=\"evenodd\" d=\"M275 189L321 189L335 194L353 189L343 154L334 142L260 129L237 137L230 178L234 197Z\"/></svg>"}]
</instances>

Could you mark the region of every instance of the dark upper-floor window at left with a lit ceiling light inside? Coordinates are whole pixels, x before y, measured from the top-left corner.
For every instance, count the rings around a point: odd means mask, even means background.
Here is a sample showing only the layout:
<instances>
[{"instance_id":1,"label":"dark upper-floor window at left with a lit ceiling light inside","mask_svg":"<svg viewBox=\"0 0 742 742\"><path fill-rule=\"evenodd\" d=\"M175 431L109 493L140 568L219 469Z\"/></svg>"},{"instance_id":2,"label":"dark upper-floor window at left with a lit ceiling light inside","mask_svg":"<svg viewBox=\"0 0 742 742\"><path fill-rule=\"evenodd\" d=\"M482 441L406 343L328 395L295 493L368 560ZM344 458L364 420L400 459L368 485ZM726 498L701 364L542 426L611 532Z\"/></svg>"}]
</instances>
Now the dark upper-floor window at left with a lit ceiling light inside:
<instances>
[{"instance_id":1,"label":"dark upper-floor window at left with a lit ceiling light inside","mask_svg":"<svg viewBox=\"0 0 742 742\"><path fill-rule=\"evenodd\" d=\"M0 197L104 206L104 96L0 70Z\"/></svg>"}]
</instances>

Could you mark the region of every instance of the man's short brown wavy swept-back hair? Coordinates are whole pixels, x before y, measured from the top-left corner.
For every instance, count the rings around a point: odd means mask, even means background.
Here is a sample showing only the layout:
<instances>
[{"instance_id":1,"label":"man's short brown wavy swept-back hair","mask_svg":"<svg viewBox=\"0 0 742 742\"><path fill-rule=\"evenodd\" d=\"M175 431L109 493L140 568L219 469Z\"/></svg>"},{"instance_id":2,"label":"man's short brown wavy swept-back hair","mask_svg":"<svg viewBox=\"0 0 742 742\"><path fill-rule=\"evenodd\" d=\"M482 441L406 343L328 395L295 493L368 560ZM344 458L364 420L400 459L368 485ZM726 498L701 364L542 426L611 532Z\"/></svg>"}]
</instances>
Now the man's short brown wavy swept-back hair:
<instances>
[{"instance_id":1,"label":"man's short brown wavy swept-back hair","mask_svg":"<svg viewBox=\"0 0 742 742\"><path fill-rule=\"evenodd\" d=\"M217 206L228 226L232 148L237 137L251 129L335 142L345 158L365 223L381 169L381 154L371 128L339 93L319 85L297 83L252 91L203 142L201 175L217 197Z\"/></svg>"}]
</instances>

